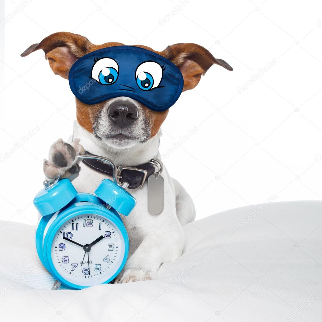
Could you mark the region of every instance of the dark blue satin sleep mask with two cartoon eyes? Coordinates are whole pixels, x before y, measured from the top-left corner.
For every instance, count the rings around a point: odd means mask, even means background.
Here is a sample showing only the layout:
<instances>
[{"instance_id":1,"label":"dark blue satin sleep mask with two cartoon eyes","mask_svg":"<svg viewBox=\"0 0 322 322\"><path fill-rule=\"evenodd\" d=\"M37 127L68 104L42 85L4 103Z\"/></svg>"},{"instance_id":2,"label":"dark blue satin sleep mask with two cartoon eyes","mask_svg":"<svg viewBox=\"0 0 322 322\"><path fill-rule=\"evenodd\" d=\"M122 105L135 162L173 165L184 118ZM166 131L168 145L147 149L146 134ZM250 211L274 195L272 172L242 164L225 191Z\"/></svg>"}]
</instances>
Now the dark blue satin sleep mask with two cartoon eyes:
<instances>
[{"instance_id":1,"label":"dark blue satin sleep mask with two cartoon eyes","mask_svg":"<svg viewBox=\"0 0 322 322\"><path fill-rule=\"evenodd\" d=\"M154 111L164 111L183 89L180 70L161 55L134 46L115 46L90 52L69 72L73 94L85 104L127 96Z\"/></svg>"}]
</instances>

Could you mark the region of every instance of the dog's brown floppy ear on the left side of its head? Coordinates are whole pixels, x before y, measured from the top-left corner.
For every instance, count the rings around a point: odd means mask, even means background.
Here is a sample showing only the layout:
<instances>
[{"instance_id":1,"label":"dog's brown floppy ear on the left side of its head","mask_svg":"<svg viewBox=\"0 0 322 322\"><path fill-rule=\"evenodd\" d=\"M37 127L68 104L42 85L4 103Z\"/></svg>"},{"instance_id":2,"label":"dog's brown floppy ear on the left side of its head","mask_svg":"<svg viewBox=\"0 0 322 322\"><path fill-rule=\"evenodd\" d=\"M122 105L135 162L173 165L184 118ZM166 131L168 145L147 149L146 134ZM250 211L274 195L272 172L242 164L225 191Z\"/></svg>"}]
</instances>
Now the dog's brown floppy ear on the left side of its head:
<instances>
[{"instance_id":1,"label":"dog's brown floppy ear on the left side of its head","mask_svg":"<svg viewBox=\"0 0 322 322\"><path fill-rule=\"evenodd\" d=\"M72 64L90 52L91 46L93 44L86 37L75 33L60 32L53 33L40 43L31 45L21 56L24 57L38 49L42 49L52 71L68 79Z\"/></svg>"}]
</instances>

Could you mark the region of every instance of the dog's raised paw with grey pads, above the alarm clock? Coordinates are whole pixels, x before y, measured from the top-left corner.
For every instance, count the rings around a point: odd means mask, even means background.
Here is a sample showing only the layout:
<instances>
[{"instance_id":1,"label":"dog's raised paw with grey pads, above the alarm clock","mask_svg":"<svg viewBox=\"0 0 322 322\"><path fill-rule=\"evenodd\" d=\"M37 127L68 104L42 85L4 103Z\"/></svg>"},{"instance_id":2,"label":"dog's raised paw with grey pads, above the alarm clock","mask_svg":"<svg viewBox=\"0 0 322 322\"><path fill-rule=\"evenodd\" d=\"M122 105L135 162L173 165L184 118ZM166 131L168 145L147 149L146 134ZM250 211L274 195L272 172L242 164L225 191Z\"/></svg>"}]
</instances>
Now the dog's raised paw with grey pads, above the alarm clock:
<instances>
[{"instance_id":1,"label":"dog's raised paw with grey pads, above the alarm clock","mask_svg":"<svg viewBox=\"0 0 322 322\"><path fill-rule=\"evenodd\" d=\"M49 149L48 160L44 159L43 172L48 181L56 177L62 178L75 175L80 171L78 155L84 154L84 148L76 138L71 144L64 142L61 138L55 141Z\"/></svg>"}]
</instances>

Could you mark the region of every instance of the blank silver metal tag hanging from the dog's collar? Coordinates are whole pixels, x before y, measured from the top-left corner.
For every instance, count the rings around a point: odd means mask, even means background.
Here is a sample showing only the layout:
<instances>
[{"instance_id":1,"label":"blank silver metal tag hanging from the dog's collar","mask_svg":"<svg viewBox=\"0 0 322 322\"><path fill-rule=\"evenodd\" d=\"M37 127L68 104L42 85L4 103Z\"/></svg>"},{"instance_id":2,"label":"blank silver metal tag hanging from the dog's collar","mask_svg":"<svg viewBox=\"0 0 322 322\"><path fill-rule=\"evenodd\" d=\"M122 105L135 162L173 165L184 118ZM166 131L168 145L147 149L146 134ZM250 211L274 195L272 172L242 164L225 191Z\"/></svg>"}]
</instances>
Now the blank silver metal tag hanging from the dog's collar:
<instances>
[{"instance_id":1,"label":"blank silver metal tag hanging from the dog's collar","mask_svg":"<svg viewBox=\"0 0 322 322\"><path fill-rule=\"evenodd\" d=\"M151 175L147 179L147 210L151 215L162 213L164 206L164 179Z\"/></svg>"}]
</instances>

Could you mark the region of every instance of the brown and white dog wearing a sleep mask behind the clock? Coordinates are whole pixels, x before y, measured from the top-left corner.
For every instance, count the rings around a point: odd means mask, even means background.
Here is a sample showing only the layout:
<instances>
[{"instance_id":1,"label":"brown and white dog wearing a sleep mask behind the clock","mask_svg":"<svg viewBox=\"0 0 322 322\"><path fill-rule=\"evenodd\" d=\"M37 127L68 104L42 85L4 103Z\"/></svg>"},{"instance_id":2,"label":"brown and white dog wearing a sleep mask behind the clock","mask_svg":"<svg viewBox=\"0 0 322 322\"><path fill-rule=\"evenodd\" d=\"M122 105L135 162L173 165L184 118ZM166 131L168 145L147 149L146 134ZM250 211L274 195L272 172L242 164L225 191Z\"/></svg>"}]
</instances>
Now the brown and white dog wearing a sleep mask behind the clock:
<instances>
[{"instance_id":1,"label":"brown and white dog wearing a sleep mask behind the clock","mask_svg":"<svg viewBox=\"0 0 322 322\"><path fill-rule=\"evenodd\" d=\"M86 37L69 32L53 33L40 43L31 45L21 56L42 49L54 74L68 79L71 66L84 55L101 48L121 46L121 43L95 45ZM178 43L157 52L175 64L183 76L183 90L197 86L201 76L213 65L232 71L232 67L216 59L204 47L194 43ZM94 193L102 179L110 176L82 165L77 156L88 153L106 156L117 166L136 167L159 158L160 127L169 109L154 111L135 99L120 96L88 105L76 98L76 118L73 135L68 142L58 139L44 160L43 171L49 181L55 177L79 175L73 184L77 191ZM80 144L81 142L81 144ZM182 185L170 177L166 168L164 178L164 208L159 215L148 211L147 183L130 191L137 205L129 216L122 216L130 248L128 260L114 283L151 280L157 277L162 263L176 260L182 254L185 238L182 226L194 221L192 198Z\"/></svg>"}]
</instances>

